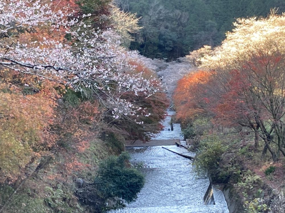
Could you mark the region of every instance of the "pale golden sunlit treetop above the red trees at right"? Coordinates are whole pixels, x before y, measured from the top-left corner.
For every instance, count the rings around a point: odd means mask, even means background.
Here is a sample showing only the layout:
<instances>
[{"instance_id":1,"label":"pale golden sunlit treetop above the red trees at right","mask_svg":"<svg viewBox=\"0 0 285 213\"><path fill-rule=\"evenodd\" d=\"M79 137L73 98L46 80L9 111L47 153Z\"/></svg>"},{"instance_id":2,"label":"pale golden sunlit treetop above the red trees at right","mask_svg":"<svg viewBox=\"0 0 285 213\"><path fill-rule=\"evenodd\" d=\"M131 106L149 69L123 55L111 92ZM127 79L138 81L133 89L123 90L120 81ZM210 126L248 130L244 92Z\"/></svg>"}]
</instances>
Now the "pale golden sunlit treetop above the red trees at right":
<instances>
[{"instance_id":1,"label":"pale golden sunlit treetop above the red trees at right","mask_svg":"<svg viewBox=\"0 0 285 213\"><path fill-rule=\"evenodd\" d=\"M272 11L267 18L238 18L234 26L220 47L200 59L202 67L230 68L260 51L285 52L285 14Z\"/></svg>"}]
</instances>

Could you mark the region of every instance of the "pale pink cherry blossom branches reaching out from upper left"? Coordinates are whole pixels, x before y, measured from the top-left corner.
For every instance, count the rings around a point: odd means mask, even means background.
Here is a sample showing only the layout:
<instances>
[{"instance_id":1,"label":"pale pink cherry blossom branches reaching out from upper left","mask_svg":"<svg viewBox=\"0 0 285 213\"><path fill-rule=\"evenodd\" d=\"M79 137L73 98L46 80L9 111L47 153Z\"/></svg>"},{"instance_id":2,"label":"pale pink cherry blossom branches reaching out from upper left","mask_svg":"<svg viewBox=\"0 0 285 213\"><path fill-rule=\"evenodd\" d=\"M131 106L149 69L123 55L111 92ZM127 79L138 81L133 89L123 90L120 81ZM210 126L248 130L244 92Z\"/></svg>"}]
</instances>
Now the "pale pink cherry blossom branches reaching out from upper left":
<instances>
[{"instance_id":1,"label":"pale pink cherry blossom branches reaching out from upper left","mask_svg":"<svg viewBox=\"0 0 285 213\"><path fill-rule=\"evenodd\" d=\"M91 93L114 119L141 114L141 108L120 98L123 93L149 97L160 90L142 73L131 72L128 61L137 53L120 47L113 30L93 29L92 14L77 15L68 6L54 11L52 2L41 0L0 0L0 9L1 66L62 83L82 95ZM60 31L66 39L43 37L26 43L17 38L37 28Z\"/></svg>"}]
</instances>

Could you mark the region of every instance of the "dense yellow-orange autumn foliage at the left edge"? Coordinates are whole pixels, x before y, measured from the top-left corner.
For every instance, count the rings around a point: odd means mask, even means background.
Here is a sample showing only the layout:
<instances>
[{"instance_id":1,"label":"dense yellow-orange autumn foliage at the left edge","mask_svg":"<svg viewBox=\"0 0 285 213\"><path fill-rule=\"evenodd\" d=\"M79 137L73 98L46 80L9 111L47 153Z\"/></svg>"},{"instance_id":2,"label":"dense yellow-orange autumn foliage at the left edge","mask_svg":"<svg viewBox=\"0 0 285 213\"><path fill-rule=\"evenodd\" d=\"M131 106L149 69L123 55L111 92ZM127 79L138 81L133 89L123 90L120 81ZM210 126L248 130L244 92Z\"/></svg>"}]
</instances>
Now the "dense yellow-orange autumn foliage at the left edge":
<instances>
[{"instance_id":1,"label":"dense yellow-orange autumn foliage at the left edge","mask_svg":"<svg viewBox=\"0 0 285 213\"><path fill-rule=\"evenodd\" d=\"M27 164L47 154L56 143L48 131L54 118L54 99L44 91L25 95L15 86L10 88L0 83L0 182L13 182Z\"/></svg>"}]
</instances>

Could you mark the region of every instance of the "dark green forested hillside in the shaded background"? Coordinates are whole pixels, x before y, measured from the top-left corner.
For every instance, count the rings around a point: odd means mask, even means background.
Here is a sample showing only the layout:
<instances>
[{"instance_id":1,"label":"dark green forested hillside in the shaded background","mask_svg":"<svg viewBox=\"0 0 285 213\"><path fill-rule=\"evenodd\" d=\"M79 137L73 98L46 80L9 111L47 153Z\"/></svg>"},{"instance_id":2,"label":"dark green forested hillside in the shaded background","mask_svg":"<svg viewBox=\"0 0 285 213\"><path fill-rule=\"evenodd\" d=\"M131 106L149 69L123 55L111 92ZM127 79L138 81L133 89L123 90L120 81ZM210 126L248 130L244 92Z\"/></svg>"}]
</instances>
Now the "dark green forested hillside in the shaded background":
<instances>
[{"instance_id":1,"label":"dark green forested hillside in the shaded background","mask_svg":"<svg viewBox=\"0 0 285 213\"><path fill-rule=\"evenodd\" d=\"M146 57L175 59L203 45L217 46L235 18L285 11L283 0L115 0L123 11L142 17L141 35L131 43Z\"/></svg>"}]
</instances>

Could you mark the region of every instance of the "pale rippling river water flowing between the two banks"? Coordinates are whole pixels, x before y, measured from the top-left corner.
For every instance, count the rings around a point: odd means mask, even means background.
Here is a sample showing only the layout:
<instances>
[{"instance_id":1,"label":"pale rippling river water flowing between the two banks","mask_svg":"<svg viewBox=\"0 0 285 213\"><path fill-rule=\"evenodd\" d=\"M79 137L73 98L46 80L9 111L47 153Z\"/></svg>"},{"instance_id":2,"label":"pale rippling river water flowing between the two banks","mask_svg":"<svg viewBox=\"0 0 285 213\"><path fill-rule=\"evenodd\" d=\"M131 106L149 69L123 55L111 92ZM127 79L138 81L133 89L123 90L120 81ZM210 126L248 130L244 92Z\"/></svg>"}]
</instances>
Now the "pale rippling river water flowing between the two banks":
<instances>
[{"instance_id":1,"label":"pale rippling river water flowing between the two banks","mask_svg":"<svg viewBox=\"0 0 285 213\"><path fill-rule=\"evenodd\" d=\"M156 135L147 146L134 143L127 147L131 163L143 165L146 183L135 202L126 208L112 212L126 213L228 213L223 192L209 183L209 178L200 177L193 171L191 161L162 147L188 156L195 156L175 141L186 145L180 124L168 131L171 115L163 122L164 131ZM137 145L137 146L135 146Z\"/></svg>"}]
</instances>

